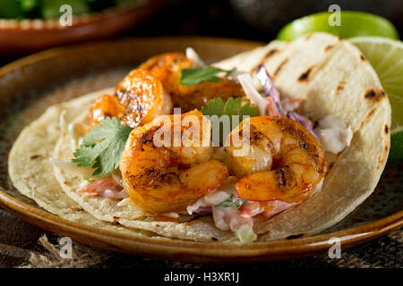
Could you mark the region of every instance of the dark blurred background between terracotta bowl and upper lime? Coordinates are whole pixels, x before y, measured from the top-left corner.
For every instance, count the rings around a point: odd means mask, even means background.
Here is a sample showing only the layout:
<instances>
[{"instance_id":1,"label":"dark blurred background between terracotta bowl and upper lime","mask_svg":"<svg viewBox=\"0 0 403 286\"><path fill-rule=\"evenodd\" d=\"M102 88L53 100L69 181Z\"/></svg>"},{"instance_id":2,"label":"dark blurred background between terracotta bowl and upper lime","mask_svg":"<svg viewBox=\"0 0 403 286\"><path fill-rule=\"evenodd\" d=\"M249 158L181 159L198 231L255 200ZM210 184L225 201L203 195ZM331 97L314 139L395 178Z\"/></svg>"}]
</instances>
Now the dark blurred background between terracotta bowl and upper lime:
<instances>
[{"instance_id":1,"label":"dark blurred background between terracotta bowl and upper lime","mask_svg":"<svg viewBox=\"0 0 403 286\"><path fill-rule=\"evenodd\" d=\"M341 10L381 15L403 32L402 0L173 0L133 35L202 35L268 42L289 21L326 12L331 4Z\"/></svg>"}]
</instances>

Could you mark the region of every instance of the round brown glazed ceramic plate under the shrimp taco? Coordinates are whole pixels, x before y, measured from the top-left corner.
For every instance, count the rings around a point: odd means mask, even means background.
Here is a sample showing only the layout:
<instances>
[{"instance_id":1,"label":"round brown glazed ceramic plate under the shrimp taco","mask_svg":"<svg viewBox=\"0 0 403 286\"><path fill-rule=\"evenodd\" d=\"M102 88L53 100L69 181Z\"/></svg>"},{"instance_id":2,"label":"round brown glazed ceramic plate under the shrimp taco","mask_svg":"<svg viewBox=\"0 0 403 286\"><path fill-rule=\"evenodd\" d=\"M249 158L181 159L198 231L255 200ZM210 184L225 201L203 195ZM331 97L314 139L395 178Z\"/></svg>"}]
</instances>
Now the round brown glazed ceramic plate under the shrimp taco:
<instances>
[{"instance_id":1,"label":"round brown glazed ceramic plate under the shrimp taco","mask_svg":"<svg viewBox=\"0 0 403 286\"><path fill-rule=\"evenodd\" d=\"M201 243L136 238L73 223L49 214L13 189L7 157L13 140L48 105L115 86L125 73L162 52L193 46L212 63L262 43L220 38L133 38L55 48L23 58L0 69L0 204L47 231L91 246L125 253L197 262L240 262L303 257L328 251L332 237L351 247L403 225L403 164L387 165L373 195L342 222L319 235L245 244Z\"/></svg>"}]
</instances>

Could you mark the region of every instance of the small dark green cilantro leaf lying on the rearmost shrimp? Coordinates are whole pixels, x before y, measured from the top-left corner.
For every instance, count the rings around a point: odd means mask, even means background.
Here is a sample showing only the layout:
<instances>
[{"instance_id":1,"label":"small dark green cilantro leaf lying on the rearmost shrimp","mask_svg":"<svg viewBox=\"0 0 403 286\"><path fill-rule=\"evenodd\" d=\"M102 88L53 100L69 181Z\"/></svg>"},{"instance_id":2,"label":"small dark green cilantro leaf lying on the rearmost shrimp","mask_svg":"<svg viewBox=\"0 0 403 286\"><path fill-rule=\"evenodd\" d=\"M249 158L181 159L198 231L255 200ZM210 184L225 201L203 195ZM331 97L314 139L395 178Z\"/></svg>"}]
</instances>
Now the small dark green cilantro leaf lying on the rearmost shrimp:
<instances>
[{"instance_id":1,"label":"small dark green cilantro leaf lying on the rearmost shrimp","mask_svg":"<svg viewBox=\"0 0 403 286\"><path fill-rule=\"evenodd\" d=\"M226 75L229 75L235 70L236 69L226 71L214 66L183 69L181 71L180 84L184 86L193 86L195 84L201 83L202 81L219 81L217 73L226 72Z\"/></svg>"}]
</instances>

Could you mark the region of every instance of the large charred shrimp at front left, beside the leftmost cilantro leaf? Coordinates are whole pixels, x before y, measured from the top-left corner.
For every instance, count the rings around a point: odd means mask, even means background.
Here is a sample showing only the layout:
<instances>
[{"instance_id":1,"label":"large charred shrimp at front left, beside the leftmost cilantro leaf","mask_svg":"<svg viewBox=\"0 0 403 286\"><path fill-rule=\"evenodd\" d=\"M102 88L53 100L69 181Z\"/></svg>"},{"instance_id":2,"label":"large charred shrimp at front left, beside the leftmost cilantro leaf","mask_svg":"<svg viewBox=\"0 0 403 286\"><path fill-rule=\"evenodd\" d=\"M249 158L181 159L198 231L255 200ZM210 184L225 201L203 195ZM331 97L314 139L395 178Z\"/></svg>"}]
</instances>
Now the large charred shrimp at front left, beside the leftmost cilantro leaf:
<instances>
[{"instance_id":1,"label":"large charred shrimp at front left, beside the leftmost cilantro leaf","mask_svg":"<svg viewBox=\"0 0 403 286\"><path fill-rule=\"evenodd\" d=\"M129 198L154 214L182 211L223 184L228 171L212 159L210 130L210 121L197 110L161 116L134 129L120 164Z\"/></svg>"}]
</instances>

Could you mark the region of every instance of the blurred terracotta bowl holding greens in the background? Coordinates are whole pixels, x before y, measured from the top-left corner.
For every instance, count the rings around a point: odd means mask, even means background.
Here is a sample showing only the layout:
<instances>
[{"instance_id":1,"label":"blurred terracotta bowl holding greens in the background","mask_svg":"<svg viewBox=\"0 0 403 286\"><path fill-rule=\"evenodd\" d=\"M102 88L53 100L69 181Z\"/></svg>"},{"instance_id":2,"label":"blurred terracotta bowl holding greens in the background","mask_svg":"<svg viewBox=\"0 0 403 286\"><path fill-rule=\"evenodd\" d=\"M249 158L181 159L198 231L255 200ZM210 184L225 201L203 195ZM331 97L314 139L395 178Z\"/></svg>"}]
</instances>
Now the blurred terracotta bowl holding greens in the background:
<instances>
[{"instance_id":1,"label":"blurred terracotta bowl holding greens in the background","mask_svg":"<svg viewBox=\"0 0 403 286\"><path fill-rule=\"evenodd\" d=\"M72 26L55 20L0 19L0 53L13 55L81 41L107 38L133 29L163 4L144 0L73 17Z\"/></svg>"}]
</instances>

